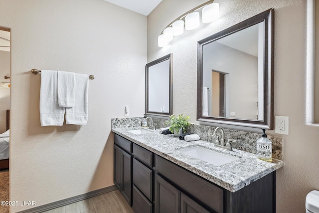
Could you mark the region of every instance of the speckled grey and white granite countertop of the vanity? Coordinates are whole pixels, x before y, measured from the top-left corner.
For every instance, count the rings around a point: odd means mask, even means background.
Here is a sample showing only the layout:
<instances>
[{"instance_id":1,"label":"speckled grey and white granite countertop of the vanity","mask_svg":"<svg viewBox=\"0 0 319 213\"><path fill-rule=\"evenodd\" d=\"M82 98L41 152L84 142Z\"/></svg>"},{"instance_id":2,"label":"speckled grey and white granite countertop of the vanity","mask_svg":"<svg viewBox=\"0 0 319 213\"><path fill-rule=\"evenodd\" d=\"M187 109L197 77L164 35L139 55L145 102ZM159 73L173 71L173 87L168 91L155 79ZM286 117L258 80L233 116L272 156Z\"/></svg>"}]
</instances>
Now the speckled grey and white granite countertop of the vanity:
<instances>
[{"instance_id":1,"label":"speckled grey and white granite countertop of the vanity","mask_svg":"<svg viewBox=\"0 0 319 213\"><path fill-rule=\"evenodd\" d=\"M150 133L144 134L133 134L128 132L128 130L134 129L143 128L113 128L112 132L226 190L229 190L230 192L236 192L284 165L283 161L275 159L273 159L272 163L262 161L257 159L255 154L237 149L227 151L215 148L213 143L202 140L186 142L184 140L179 140L178 137L173 137L172 135L160 134L158 130L149 130ZM193 146L201 146L220 153L235 156L238 157L238 160L220 166L215 166L178 151L182 148Z\"/></svg>"}]
</instances>

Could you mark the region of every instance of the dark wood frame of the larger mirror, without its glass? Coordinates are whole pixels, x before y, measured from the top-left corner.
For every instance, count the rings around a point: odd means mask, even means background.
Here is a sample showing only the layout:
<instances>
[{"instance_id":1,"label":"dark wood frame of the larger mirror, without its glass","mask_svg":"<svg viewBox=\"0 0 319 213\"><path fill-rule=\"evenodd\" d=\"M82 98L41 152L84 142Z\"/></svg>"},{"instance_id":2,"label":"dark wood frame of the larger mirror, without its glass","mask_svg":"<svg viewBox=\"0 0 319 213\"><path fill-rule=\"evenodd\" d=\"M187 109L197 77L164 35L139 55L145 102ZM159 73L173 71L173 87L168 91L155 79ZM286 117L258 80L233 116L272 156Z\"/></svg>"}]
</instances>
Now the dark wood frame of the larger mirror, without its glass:
<instances>
[{"instance_id":1,"label":"dark wood frame of the larger mirror, without its glass","mask_svg":"<svg viewBox=\"0 0 319 213\"><path fill-rule=\"evenodd\" d=\"M260 22L265 22L263 120L202 115L203 46ZM274 117L274 9L268 9L197 42L197 120L252 128L273 129Z\"/></svg>"}]
</instances>

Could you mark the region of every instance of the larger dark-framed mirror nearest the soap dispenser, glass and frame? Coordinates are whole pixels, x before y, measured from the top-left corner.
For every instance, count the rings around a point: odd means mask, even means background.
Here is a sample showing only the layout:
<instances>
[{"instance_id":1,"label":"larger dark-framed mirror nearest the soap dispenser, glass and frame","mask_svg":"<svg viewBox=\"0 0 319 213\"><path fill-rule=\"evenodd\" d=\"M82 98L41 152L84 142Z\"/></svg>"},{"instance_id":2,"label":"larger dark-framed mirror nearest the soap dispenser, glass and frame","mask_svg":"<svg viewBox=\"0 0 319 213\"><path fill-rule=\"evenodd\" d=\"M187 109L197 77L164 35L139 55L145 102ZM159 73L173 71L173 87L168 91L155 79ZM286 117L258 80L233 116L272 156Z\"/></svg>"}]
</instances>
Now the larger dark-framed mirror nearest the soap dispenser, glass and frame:
<instances>
[{"instance_id":1,"label":"larger dark-framed mirror nearest the soap dispenser, glass and frame","mask_svg":"<svg viewBox=\"0 0 319 213\"><path fill-rule=\"evenodd\" d=\"M273 129L274 9L197 43L197 120Z\"/></svg>"}]
</instances>

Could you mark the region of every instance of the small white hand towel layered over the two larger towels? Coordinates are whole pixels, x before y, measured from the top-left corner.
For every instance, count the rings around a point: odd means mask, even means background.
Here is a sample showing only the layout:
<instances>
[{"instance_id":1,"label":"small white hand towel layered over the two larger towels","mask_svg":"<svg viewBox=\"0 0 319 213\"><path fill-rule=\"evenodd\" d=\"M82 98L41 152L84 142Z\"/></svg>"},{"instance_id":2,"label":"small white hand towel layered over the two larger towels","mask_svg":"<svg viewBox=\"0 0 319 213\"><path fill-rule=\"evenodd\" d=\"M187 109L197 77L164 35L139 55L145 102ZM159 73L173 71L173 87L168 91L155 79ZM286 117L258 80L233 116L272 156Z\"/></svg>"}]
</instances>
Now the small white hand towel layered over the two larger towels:
<instances>
[{"instance_id":1,"label":"small white hand towel layered over the two larger towels","mask_svg":"<svg viewBox=\"0 0 319 213\"><path fill-rule=\"evenodd\" d=\"M74 72L58 71L58 103L60 107L73 107L75 97Z\"/></svg>"}]
</instances>

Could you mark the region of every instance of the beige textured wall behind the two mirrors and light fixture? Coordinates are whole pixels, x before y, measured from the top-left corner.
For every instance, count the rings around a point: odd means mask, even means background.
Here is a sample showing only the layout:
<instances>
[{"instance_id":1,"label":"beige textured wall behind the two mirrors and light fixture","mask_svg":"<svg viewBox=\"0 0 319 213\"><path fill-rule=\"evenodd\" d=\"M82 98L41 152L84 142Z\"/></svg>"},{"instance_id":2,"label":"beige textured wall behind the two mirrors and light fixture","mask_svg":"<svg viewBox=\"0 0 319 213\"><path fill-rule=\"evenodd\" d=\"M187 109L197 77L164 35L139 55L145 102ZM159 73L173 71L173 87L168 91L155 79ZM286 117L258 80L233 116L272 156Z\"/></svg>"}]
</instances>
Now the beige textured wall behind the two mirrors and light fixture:
<instances>
[{"instance_id":1,"label":"beige textured wall behind the two mirrors and light fixture","mask_svg":"<svg viewBox=\"0 0 319 213\"><path fill-rule=\"evenodd\" d=\"M306 0L216 0L220 18L157 46L163 28L206 0L162 0L148 16L148 62L173 53L173 113L196 121L196 42L242 20L275 8L275 115L289 116L285 166L277 171L277 212L305 212L305 198L319 190L319 130L305 126ZM187 94L187 104L184 103ZM261 132L261 131L259 131ZM276 135L274 131L267 134Z\"/></svg>"}]
</instances>

